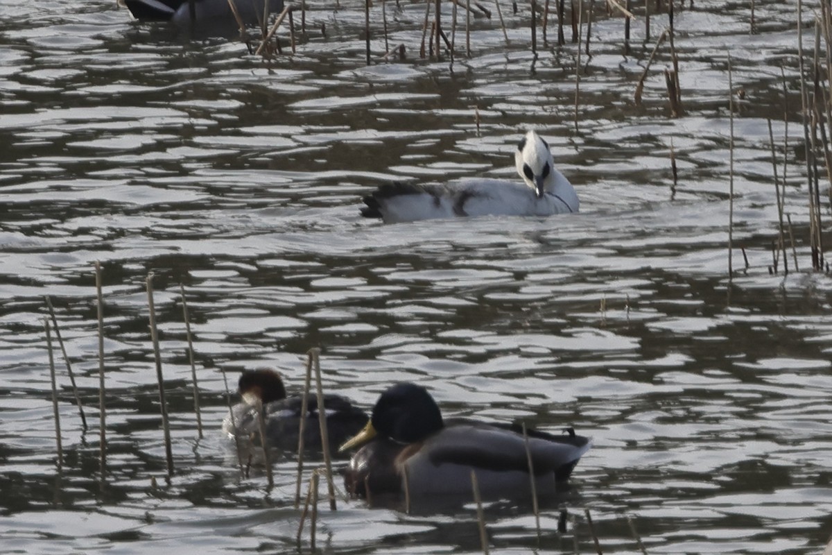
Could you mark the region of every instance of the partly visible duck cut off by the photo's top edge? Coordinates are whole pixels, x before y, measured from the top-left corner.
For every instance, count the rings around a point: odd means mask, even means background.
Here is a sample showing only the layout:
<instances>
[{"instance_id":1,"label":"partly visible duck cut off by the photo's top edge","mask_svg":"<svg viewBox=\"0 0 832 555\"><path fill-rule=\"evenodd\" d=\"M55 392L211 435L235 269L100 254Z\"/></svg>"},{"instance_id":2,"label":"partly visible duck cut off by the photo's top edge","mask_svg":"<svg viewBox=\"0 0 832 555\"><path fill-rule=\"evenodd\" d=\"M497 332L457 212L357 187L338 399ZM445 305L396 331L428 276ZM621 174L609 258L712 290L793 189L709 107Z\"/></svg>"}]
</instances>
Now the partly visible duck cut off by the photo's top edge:
<instances>
[{"instance_id":1,"label":"partly visible duck cut off by the photo's top edge","mask_svg":"<svg viewBox=\"0 0 832 555\"><path fill-rule=\"evenodd\" d=\"M166 21L179 27L191 25L191 2L189 0L123 0L133 17L139 21ZM236 0L235 6L240 19L246 25L255 25L263 17L263 0ZM201 29L223 27L238 28L228 0L195 0L193 22ZM283 0L269 0L271 13L283 9Z\"/></svg>"}]
</instances>

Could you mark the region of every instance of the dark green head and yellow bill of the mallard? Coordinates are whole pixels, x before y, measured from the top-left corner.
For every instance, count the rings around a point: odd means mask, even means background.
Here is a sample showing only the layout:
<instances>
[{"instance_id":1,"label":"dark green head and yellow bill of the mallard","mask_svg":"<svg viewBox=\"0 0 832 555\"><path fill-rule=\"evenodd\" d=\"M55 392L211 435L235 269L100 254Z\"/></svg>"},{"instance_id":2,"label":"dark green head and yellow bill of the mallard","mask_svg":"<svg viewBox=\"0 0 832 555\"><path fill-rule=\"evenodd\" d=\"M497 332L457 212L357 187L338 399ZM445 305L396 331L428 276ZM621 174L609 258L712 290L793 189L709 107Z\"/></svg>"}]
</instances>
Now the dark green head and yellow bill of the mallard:
<instances>
[{"instance_id":1,"label":"dark green head and yellow bill of the mallard","mask_svg":"<svg viewBox=\"0 0 832 555\"><path fill-rule=\"evenodd\" d=\"M414 444L442 428L442 413L427 389L416 384L394 384L379 397L367 426L339 451L359 447L376 435L399 444Z\"/></svg>"}]
</instances>

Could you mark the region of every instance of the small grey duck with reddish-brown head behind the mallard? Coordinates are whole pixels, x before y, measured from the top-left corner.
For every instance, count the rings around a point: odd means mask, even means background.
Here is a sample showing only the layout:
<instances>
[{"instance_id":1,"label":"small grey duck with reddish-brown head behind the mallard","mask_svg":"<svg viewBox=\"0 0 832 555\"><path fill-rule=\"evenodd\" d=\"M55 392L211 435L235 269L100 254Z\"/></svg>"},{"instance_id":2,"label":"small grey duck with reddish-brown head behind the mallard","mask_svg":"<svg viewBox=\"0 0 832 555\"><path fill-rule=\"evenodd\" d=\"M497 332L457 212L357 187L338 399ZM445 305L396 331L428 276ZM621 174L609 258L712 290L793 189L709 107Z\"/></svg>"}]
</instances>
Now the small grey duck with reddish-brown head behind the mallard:
<instances>
[{"instance_id":1,"label":"small grey duck with reddish-brown head behind the mallard","mask_svg":"<svg viewBox=\"0 0 832 555\"><path fill-rule=\"evenodd\" d=\"M233 424L229 415L222 424L223 431L241 439L259 438L257 408L262 403L265 410L265 434L270 447L296 452L303 395L286 397L283 379L271 368L244 370L240 374L238 387L243 402L231 408ZM354 407L349 399L333 394L324 395L324 409L329 452L335 454L340 444L367 424L367 414ZM304 446L310 451L320 451L323 447L318 424L318 399L314 393L309 395L306 418ZM259 439L257 443L260 443Z\"/></svg>"}]
</instances>

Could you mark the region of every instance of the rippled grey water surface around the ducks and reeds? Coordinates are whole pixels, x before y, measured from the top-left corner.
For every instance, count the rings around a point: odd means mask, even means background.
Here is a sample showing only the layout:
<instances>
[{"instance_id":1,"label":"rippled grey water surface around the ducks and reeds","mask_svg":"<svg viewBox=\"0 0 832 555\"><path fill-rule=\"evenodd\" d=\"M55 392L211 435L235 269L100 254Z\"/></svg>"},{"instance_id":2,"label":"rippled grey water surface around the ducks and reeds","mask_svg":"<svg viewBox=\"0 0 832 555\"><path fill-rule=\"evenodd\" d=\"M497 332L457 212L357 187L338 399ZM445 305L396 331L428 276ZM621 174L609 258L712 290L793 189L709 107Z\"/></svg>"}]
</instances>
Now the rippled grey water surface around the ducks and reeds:
<instances>
[{"instance_id":1,"label":"rippled grey water surface around the ducks and reeds","mask_svg":"<svg viewBox=\"0 0 832 555\"><path fill-rule=\"evenodd\" d=\"M423 6L406 2L387 9L389 42L404 42L408 59L365 67L364 14L346 2L314 4L297 53L265 64L240 42L131 22L115 2L0 0L0 552L294 551L294 463L277 463L270 493L259 474L238 478L218 434L218 369L275 364L296 390L306 350L321 346L327 388L364 406L407 379L448 415L594 437L572 491L542 513L539 544L528 508L487 511L498 553L572 553L573 529L591 552L583 508L605 553L641 553L628 515L649 553L818 553L832 530L832 288L807 271L796 7L756 2L754 34L745 4L676 12L686 113L671 118L666 47L643 104L633 102L667 16L652 17L644 44L636 8L624 57L623 20L597 3L576 131L576 48L541 44L534 62L525 5L516 15L503 6L509 47L496 22L477 18L473 57L459 51L452 69L418 59ZM745 266L740 247L750 265L732 282L728 52L745 92L734 265ZM769 271L766 118L789 164L800 272L787 277ZM359 217L360 196L384 181L511 176L527 127L550 139L581 214L388 226ZM103 490L97 433L82 433L63 374L57 476L42 322L51 295L97 427L95 260L110 409ZM175 440L170 486L149 271ZM179 284L208 430L199 442ZM577 522L562 535L560 507ZM337 513L322 506L320 519L329 553L479 550L470 506L406 515L352 501Z\"/></svg>"}]
</instances>

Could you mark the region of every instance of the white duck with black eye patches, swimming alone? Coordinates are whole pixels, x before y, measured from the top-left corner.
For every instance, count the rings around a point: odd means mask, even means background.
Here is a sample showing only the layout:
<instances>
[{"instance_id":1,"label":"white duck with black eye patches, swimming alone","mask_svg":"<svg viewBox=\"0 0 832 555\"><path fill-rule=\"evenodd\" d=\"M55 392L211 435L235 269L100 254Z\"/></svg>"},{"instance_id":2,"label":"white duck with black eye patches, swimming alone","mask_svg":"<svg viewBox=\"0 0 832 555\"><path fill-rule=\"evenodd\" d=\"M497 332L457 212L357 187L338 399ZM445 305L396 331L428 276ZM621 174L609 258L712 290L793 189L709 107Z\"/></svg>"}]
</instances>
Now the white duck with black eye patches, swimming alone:
<instances>
[{"instance_id":1,"label":"white duck with black eye patches, swimming alone","mask_svg":"<svg viewBox=\"0 0 832 555\"><path fill-rule=\"evenodd\" d=\"M448 185L388 183L364 196L361 215L385 223L455 216L552 216L578 211L572 184L554 166L549 144L528 131L514 153L522 182L466 179Z\"/></svg>"}]
</instances>

